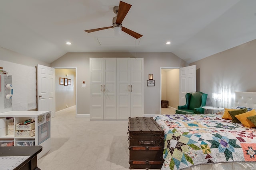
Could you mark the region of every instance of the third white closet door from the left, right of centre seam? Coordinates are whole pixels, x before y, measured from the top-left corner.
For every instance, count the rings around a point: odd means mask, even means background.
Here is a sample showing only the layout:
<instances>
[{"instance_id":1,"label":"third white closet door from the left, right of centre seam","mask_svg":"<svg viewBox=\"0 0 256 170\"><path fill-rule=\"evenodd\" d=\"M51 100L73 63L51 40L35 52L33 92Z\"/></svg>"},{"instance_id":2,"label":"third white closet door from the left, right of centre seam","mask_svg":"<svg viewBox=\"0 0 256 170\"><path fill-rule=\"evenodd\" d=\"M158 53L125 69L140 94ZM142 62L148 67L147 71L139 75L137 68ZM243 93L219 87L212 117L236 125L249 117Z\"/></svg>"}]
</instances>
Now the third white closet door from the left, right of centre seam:
<instances>
[{"instance_id":1,"label":"third white closet door from the left, right of centre seam","mask_svg":"<svg viewBox=\"0 0 256 170\"><path fill-rule=\"evenodd\" d=\"M117 119L130 117L130 58L117 58Z\"/></svg>"}]
</instances>

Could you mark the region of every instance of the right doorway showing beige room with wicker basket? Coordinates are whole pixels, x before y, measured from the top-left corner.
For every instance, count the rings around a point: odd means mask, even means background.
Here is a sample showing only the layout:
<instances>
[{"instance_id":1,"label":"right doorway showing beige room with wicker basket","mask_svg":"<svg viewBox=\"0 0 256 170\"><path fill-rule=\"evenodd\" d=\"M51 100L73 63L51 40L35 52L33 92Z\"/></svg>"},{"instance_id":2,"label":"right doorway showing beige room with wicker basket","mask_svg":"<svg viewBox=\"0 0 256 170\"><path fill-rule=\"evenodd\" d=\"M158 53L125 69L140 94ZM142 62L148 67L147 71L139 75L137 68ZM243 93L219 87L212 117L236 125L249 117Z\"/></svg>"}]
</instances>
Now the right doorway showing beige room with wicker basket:
<instances>
[{"instance_id":1,"label":"right doorway showing beige room with wicker basket","mask_svg":"<svg viewBox=\"0 0 256 170\"><path fill-rule=\"evenodd\" d=\"M160 67L160 114L174 113L179 104L180 67ZM168 101L168 109L162 108Z\"/></svg>"}]
</instances>

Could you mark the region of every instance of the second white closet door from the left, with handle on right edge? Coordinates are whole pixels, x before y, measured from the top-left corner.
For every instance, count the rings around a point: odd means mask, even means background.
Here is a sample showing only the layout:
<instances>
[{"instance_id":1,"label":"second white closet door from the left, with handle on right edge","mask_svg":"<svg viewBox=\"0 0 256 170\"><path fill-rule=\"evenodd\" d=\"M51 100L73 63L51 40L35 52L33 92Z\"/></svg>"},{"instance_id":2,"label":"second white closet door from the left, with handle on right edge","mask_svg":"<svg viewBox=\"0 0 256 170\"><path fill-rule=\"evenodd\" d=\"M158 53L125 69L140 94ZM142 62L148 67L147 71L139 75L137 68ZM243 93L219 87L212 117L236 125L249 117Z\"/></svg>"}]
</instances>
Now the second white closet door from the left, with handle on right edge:
<instances>
[{"instance_id":1,"label":"second white closet door from the left, with handle on right edge","mask_svg":"<svg viewBox=\"0 0 256 170\"><path fill-rule=\"evenodd\" d=\"M103 58L103 115L116 119L116 58Z\"/></svg>"}]
</instances>

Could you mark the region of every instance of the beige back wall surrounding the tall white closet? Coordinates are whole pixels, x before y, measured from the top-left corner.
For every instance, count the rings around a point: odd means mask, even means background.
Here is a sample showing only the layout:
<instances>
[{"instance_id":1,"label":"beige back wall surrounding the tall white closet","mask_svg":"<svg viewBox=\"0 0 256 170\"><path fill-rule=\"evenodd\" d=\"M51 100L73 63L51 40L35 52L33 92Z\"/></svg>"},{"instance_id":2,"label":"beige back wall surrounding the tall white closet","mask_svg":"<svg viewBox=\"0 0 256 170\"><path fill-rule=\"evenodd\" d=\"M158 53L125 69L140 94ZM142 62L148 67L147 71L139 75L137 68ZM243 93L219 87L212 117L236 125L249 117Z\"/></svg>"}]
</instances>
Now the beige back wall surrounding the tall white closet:
<instances>
[{"instance_id":1,"label":"beige back wall surrounding the tall white closet","mask_svg":"<svg viewBox=\"0 0 256 170\"><path fill-rule=\"evenodd\" d=\"M77 112L78 114L90 113L90 57L138 57L144 58L144 113L160 113L160 67L186 66L185 61L173 53L67 53L51 66L76 66L77 83L86 82L86 88L77 87ZM153 74L155 86L148 87L146 80L148 74Z\"/></svg>"}]
</instances>

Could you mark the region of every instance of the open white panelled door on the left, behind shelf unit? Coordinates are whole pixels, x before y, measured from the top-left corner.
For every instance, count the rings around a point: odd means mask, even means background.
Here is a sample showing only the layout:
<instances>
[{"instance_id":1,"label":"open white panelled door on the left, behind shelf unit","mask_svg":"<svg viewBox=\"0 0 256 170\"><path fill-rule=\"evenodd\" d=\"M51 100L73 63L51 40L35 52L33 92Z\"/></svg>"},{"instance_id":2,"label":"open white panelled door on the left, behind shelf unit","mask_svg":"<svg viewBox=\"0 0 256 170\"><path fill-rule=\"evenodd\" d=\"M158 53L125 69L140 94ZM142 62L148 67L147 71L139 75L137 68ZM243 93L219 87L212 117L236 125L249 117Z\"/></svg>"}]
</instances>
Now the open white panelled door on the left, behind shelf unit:
<instances>
[{"instance_id":1,"label":"open white panelled door on the left, behind shelf unit","mask_svg":"<svg viewBox=\"0 0 256 170\"><path fill-rule=\"evenodd\" d=\"M55 116L55 69L48 66L37 66L37 108L39 111L51 111Z\"/></svg>"}]
</instances>

